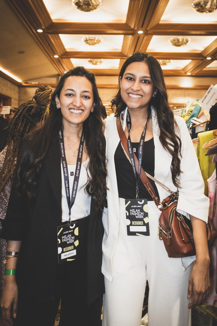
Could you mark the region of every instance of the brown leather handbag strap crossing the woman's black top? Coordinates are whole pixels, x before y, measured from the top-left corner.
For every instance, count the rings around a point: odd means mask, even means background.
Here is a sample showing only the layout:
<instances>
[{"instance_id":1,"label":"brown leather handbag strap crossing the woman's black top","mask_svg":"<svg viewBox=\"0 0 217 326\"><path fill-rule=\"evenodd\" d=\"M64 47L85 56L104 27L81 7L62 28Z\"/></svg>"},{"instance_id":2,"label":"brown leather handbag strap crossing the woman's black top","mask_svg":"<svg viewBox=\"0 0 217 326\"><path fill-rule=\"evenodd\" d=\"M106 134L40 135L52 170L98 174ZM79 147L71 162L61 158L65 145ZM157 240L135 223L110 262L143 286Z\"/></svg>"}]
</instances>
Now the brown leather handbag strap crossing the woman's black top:
<instances>
[{"instance_id":1,"label":"brown leather handbag strap crossing the woman's black top","mask_svg":"<svg viewBox=\"0 0 217 326\"><path fill-rule=\"evenodd\" d=\"M120 117L116 117L116 125L117 125L118 135L119 135L119 138L120 138L121 143L123 145L123 148L124 148L127 156L129 157L128 146L127 146L127 138L126 138L126 135L125 135L125 133L123 131ZM136 171L138 173L138 159L137 159L135 153L133 153L133 155L134 155L134 159L135 159ZM156 193L155 193L155 191L154 191L154 189L153 189L147 175L152 180L156 181L159 185L161 185L166 191L170 192L170 196L166 197L164 200L162 200L162 202L160 202L160 200L157 197L157 195L156 195ZM178 191L176 193L172 192L168 187L166 187L164 184L162 184L157 179L153 178L150 174L148 174L148 173L146 174L145 171L142 168L141 168L141 173L140 173L140 179L141 179L143 185L145 186L145 188L147 189L148 193L152 197L155 205L157 206L157 208L160 211L164 211L172 201L178 199Z\"/></svg>"}]
</instances>

